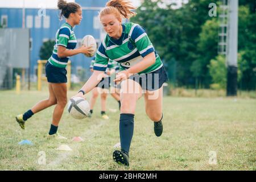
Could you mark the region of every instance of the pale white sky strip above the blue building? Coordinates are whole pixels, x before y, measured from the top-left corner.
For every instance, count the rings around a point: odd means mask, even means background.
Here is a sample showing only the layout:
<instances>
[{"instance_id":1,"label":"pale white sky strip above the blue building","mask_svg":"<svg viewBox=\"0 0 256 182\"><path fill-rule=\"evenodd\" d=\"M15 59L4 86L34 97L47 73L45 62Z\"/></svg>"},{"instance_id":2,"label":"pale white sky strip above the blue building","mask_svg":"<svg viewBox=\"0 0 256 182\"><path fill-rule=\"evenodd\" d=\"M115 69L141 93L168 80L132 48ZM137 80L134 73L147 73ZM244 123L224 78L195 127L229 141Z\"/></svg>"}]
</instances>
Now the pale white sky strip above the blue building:
<instances>
[{"instance_id":1,"label":"pale white sky strip above the blue building","mask_svg":"<svg viewBox=\"0 0 256 182\"><path fill-rule=\"evenodd\" d=\"M74 2L74 0L66 0L67 2ZM135 6L140 5L140 1L131 0ZM24 4L27 8L41 8L46 9L57 8L57 0L24 0ZM0 7L23 7L23 0L0 0Z\"/></svg>"}]
</instances>

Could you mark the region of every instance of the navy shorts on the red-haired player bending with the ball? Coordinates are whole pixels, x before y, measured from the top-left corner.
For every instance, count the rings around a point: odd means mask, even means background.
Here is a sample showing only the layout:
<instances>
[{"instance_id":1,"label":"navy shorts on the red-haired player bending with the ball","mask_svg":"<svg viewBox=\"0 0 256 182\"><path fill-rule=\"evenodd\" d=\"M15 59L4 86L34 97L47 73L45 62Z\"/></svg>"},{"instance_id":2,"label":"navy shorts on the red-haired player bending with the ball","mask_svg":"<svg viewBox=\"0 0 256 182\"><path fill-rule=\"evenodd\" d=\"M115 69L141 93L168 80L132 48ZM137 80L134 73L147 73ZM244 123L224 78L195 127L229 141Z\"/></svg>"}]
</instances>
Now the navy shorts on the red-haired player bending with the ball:
<instances>
[{"instance_id":1,"label":"navy shorts on the red-haired player bending with the ball","mask_svg":"<svg viewBox=\"0 0 256 182\"><path fill-rule=\"evenodd\" d=\"M142 73L141 75L135 74L130 76L129 79L138 82L143 90L148 91L158 90L162 87L164 82L168 81L164 67L151 73Z\"/></svg>"}]
</instances>

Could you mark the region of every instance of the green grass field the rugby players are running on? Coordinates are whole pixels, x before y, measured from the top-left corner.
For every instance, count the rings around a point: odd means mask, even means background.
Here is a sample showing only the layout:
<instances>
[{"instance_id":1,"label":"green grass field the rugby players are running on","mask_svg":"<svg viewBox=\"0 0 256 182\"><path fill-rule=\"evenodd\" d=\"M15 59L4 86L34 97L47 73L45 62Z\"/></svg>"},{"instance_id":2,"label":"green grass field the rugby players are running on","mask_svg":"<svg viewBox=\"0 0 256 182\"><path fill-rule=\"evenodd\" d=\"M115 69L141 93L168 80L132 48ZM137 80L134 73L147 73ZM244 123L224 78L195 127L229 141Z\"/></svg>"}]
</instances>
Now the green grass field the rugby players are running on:
<instances>
[{"instance_id":1,"label":"green grass field the rugby players are running on","mask_svg":"<svg viewBox=\"0 0 256 182\"><path fill-rule=\"evenodd\" d=\"M69 92L69 97L76 92ZM114 144L119 142L119 111L100 118L97 100L92 118L73 119L65 109L59 132L68 140L47 140L53 107L35 114L20 129L15 115L30 109L47 92L0 92L0 170L256 170L256 100L242 98L164 97L161 137L141 99L135 113L130 166L113 162ZM118 104L108 97L110 109ZM72 142L75 136L84 142ZM19 146L20 140L33 146ZM68 144L73 151L58 151ZM38 164L38 152L46 153L46 165ZM209 164L209 152L217 164Z\"/></svg>"}]
</instances>

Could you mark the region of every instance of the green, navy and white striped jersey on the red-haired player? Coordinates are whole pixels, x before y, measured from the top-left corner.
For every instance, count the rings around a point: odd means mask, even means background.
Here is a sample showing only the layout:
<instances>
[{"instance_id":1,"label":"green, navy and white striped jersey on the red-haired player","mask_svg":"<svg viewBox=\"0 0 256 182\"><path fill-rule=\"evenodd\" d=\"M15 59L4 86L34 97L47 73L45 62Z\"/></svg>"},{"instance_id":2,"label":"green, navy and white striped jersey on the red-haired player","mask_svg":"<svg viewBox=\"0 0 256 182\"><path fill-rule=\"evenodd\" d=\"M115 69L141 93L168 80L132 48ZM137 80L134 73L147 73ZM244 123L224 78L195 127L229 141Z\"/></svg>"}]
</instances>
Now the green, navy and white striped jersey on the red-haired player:
<instances>
[{"instance_id":1,"label":"green, navy and white striped jersey on the red-haired player","mask_svg":"<svg viewBox=\"0 0 256 182\"><path fill-rule=\"evenodd\" d=\"M123 32L120 39L114 40L107 34L102 41L96 53L94 70L105 71L110 59L120 63L122 71L141 62L143 57L149 53L155 52L147 33L139 24L129 22L122 24L122 27ZM155 57L155 63L142 72L139 72L139 74L154 72L163 66L156 52Z\"/></svg>"}]
</instances>

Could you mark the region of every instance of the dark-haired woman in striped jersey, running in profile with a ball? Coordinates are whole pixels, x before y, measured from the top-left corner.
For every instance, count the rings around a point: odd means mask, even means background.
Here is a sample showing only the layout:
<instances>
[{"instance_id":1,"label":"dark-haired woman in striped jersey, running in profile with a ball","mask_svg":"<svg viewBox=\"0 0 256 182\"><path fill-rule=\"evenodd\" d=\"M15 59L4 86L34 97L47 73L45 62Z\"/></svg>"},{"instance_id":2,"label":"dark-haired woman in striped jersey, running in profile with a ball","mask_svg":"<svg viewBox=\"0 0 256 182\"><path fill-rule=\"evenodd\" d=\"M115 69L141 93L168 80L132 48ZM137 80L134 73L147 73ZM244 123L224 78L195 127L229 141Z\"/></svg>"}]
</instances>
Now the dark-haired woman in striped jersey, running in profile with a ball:
<instances>
[{"instance_id":1,"label":"dark-haired woman in striped jersey, running in profile with a ball","mask_svg":"<svg viewBox=\"0 0 256 182\"><path fill-rule=\"evenodd\" d=\"M65 139L57 134L57 128L65 105L67 104L67 71L69 56L79 53L90 53L90 47L79 47L75 49L77 40L73 32L73 27L80 24L82 20L81 6L75 2L67 3L59 0L57 4L66 22L56 32L56 43L46 64L46 77L48 81L49 98L38 102L32 109L24 114L16 116L16 121L22 129L28 118L49 106L56 105L52 115L52 124L49 129L48 138Z\"/></svg>"}]
</instances>

